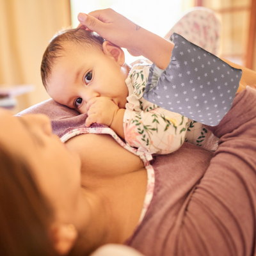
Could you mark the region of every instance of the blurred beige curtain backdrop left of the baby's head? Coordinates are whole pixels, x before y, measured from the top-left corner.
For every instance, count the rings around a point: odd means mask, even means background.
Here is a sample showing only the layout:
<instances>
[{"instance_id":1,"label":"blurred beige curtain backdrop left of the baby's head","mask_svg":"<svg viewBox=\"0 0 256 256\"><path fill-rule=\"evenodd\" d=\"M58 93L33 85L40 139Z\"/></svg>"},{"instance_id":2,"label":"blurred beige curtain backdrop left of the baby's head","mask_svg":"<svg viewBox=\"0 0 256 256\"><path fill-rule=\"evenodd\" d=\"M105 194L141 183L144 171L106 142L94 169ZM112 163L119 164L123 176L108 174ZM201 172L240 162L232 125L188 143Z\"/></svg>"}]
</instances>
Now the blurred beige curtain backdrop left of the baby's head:
<instances>
[{"instance_id":1,"label":"blurred beige curtain backdrop left of the baby's head","mask_svg":"<svg viewBox=\"0 0 256 256\"><path fill-rule=\"evenodd\" d=\"M70 26L69 0L0 0L0 86L34 84L14 112L49 99L40 65L52 36Z\"/></svg>"}]
</instances>

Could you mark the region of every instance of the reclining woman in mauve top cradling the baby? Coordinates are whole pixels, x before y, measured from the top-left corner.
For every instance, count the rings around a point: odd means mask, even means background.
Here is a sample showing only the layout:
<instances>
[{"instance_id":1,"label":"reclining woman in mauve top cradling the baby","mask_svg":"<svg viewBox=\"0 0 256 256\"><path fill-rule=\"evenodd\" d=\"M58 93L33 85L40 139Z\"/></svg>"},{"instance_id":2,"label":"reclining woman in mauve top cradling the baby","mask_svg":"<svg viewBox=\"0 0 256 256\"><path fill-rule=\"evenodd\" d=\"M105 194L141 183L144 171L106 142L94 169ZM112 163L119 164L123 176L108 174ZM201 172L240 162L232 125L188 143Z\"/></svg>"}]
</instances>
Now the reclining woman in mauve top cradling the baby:
<instances>
[{"instance_id":1,"label":"reclining woman in mauve top cradling the baby","mask_svg":"<svg viewBox=\"0 0 256 256\"><path fill-rule=\"evenodd\" d=\"M133 31L138 26L113 10L93 12L83 25L160 68L170 61L169 42ZM124 28L131 33L119 42ZM141 47L141 38L161 52ZM255 72L242 69L241 81L255 83ZM45 116L14 118L1 110L1 254L88 255L102 244L124 243L145 255L253 255L255 100L247 86L220 124L207 127L220 138L214 154L185 142L156 156L154 195L139 225L147 192L140 157L107 134L76 136L63 147Z\"/></svg>"}]
</instances>

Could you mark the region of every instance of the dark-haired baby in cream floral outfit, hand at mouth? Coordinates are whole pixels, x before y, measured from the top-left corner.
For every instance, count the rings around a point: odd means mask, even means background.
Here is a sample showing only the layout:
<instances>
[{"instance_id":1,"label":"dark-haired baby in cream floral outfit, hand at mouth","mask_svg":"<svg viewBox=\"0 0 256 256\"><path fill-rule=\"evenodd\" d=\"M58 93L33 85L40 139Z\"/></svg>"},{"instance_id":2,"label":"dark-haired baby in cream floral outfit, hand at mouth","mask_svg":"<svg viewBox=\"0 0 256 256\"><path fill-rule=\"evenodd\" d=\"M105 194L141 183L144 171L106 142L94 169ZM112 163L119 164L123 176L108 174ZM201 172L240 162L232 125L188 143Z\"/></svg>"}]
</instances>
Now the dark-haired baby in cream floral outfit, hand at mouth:
<instances>
[{"instance_id":1,"label":"dark-haired baby in cream floral outfit, hand at mouth","mask_svg":"<svg viewBox=\"0 0 256 256\"><path fill-rule=\"evenodd\" d=\"M188 118L143 99L150 66L131 67L120 47L83 28L66 29L48 45L41 75L52 99L88 114L88 127L105 124L131 147L169 154L184 142Z\"/></svg>"}]
</instances>

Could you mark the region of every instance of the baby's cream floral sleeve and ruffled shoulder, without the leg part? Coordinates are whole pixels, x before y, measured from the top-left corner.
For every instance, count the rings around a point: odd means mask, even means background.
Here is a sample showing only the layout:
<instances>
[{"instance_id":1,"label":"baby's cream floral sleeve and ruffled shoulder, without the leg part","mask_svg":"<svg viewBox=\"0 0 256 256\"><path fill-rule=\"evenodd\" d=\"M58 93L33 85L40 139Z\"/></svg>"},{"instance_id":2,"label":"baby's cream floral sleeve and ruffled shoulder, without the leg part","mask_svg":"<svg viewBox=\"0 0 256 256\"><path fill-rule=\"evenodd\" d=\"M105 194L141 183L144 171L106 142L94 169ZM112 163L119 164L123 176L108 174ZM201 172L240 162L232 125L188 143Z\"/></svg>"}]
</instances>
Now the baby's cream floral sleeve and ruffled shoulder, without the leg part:
<instances>
[{"instance_id":1,"label":"baby's cream floral sleeve and ruffled shoulder, without the leg part","mask_svg":"<svg viewBox=\"0 0 256 256\"><path fill-rule=\"evenodd\" d=\"M125 80L129 90L124 115L125 141L150 154L169 154L184 142L188 118L143 99L150 66L135 65Z\"/></svg>"}]
</instances>

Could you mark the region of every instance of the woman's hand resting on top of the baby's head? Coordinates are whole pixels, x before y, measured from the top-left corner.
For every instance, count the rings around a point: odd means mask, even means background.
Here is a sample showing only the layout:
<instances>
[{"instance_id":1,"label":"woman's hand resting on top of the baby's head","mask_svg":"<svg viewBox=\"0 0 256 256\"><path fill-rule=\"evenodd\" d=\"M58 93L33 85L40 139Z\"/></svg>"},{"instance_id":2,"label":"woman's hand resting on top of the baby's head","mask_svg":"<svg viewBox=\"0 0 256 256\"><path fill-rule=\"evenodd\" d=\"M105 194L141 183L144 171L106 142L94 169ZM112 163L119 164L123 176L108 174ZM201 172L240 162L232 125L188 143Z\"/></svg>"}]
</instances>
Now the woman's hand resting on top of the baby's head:
<instances>
[{"instance_id":1,"label":"woman's hand resting on top of the baby's head","mask_svg":"<svg viewBox=\"0 0 256 256\"><path fill-rule=\"evenodd\" d=\"M80 22L78 27L85 26L87 30L95 31L109 42L126 48L132 56L141 55L137 40L141 27L120 13L108 8L88 14L79 13L77 19Z\"/></svg>"}]
</instances>

